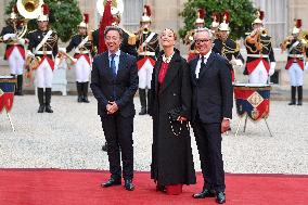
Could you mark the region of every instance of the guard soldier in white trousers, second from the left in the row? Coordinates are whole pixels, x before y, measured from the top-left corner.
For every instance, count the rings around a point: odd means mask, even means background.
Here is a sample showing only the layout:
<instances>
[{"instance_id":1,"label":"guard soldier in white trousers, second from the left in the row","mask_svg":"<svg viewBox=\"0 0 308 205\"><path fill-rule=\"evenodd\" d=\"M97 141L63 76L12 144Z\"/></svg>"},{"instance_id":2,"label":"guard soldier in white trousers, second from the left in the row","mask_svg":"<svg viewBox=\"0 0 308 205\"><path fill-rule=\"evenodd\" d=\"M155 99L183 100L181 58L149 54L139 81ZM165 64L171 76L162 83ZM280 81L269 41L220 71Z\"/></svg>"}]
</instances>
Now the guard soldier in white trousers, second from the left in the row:
<instances>
[{"instance_id":1,"label":"guard soldier in white trousers, second from the left in the row","mask_svg":"<svg viewBox=\"0 0 308 205\"><path fill-rule=\"evenodd\" d=\"M54 57L57 54L57 34L49 28L49 8L42 5L42 14L37 18L38 29L28 34L28 55L39 62L36 68L35 84L39 100L38 113L53 113L51 108L51 88Z\"/></svg>"}]
</instances>

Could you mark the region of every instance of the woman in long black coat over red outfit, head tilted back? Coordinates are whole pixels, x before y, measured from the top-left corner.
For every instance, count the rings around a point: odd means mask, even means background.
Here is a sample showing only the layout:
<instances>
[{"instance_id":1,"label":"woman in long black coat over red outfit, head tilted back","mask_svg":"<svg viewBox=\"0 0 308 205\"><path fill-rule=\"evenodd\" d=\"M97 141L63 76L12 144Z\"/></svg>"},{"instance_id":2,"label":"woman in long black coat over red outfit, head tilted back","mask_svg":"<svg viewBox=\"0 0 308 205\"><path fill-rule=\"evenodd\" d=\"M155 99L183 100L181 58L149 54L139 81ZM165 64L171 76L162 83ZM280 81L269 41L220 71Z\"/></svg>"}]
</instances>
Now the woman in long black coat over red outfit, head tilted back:
<instances>
[{"instance_id":1,"label":"woman in long black coat over red outfit, head tilted back","mask_svg":"<svg viewBox=\"0 0 308 205\"><path fill-rule=\"evenodd\" d=\"M164 51L152 76L153 144L151 178L157 190L179 194L182 184L195 183L191 138L191 81L188 64L175 49L177 36L166 28L161 35ZM176 192L174 192L176 190ZM174 190L174 191L172 191Z\"/></svg>"}]
</instances>

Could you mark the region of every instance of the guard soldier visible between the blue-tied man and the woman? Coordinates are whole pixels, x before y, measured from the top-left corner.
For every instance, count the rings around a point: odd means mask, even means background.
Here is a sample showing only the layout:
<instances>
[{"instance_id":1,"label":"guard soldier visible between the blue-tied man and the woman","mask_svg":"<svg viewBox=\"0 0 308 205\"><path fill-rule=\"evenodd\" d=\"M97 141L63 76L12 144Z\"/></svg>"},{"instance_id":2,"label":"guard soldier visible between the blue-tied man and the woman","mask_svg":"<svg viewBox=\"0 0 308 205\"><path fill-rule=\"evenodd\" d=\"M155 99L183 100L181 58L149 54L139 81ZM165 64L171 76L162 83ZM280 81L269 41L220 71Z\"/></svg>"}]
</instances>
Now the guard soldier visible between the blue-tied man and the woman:
<instances>
[{"instance_id":1,"label":"guard soldier visible between the blue-tied man and the woman","mask_svg":"<svg viewBox=\"0 0 308 205\"><path fill-rule=\"evenodd\" d=\"M139 98L141 111L139 115L149 113L151 104L151 80L155 61L159 53L158 35L151 30L151 9L144 5L144 12L140 20L140 30L137 37L137 65L139 77ZM147 90L147 103L146 103ZM146 107L147 104L147 107Z\"/></svg>"}]
</instances>

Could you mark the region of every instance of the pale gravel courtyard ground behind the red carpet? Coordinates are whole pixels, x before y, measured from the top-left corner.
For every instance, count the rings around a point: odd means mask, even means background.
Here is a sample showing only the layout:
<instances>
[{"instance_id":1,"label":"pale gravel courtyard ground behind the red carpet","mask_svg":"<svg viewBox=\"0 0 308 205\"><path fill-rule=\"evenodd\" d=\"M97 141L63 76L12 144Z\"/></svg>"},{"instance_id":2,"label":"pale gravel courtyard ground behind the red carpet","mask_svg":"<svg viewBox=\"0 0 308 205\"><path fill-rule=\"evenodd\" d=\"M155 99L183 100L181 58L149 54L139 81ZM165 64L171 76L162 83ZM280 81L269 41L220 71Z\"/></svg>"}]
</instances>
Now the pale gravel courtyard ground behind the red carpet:
<instances>
[{"instance_id":1,"label":"pale gravel courtyard ground behind the red carpet","mask_svg":"<svg viewBox=\"0 0 308 205\"><path fill-rule=\"evenodd\" d=\"M15 97L11 117L0 114L0 168L108 169L107 154L101 151L104 136L97 115L97 102L77 103L76 97L52 97L53 114L38 114L35 95ZM134 99L137 112L139 99ZM232 131L223 136L226 172L308 175L308 104L287 106L272 101L268 118L273 137L264 120L247 121L243 132L234 132L239 117L233 108ZM198 153L192 133L196 170ZM134 170L150 170L152 119L134 118Z\"/></svg>"}]
</instances>

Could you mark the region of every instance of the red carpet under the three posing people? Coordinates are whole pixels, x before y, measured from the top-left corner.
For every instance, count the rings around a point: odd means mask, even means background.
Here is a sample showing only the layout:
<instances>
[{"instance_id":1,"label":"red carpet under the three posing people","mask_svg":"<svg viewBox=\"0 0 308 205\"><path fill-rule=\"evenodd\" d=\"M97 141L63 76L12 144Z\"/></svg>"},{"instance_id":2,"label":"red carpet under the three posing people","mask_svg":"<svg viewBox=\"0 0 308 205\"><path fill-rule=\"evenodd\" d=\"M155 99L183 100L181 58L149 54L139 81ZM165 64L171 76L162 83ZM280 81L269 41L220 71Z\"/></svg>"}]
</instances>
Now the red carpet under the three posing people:
<instances>
[{"instance_id":1,"label":"red carpet under the three posing people","mask_svg":"<svg viewBox=\"0 0 308 205\"><path fill-rule=\"evenodd\" d=\"M155 191L149 172L136 172L136 190L102 189L107 171L59 169L0 169L0 205L191 205L216 204L215 198L194 200L198 183L181 195ZM306 205L308 176L227 174L227 203L236 205Z\"/></svg>"}]
</instances>

